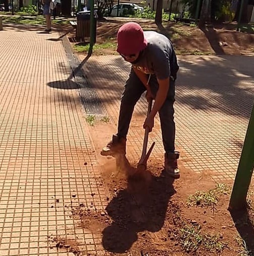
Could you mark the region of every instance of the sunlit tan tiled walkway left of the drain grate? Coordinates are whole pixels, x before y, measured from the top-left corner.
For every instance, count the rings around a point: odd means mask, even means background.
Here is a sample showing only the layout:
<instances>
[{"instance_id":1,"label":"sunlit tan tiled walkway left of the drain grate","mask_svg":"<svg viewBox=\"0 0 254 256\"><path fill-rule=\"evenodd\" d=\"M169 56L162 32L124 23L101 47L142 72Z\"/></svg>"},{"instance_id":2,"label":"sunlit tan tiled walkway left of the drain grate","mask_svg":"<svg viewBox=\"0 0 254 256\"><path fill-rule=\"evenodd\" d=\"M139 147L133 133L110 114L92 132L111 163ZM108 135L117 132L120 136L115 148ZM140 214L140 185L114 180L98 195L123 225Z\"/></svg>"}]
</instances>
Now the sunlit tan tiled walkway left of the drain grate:
<instances>
[{"instance_id":1,"label":"sunlit tan tiled walkway left of the drain grate","mask_svg":"<svg viewBox=\"0 0 254 256\"><path fill-rule=\"evenodd\" d=\"M0 31L1 256L74 255L50 248L48 236L104 253L101 234L72 216L80 204L103 209L106 194L65 50L50 40L58 36Z\"/></svg>"}]
</instances>

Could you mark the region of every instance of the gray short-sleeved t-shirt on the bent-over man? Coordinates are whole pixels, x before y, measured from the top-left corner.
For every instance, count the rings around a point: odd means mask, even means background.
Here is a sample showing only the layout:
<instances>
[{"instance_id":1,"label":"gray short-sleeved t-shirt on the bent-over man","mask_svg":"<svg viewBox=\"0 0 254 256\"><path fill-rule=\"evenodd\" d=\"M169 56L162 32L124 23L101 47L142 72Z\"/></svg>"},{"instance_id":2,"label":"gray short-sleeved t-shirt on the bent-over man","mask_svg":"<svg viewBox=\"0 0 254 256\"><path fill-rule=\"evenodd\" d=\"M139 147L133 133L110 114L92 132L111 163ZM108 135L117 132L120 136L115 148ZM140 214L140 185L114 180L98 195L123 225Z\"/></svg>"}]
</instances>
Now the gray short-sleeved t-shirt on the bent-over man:
<instances>
[{"instance_id":1,"label":"gray short-sleeved t-shirt on the bent-over man","mask_svg":"<svg viewBox=\"0 0 254 256\"><path fill-rule=\"evenodd\" d=\"M179 69L172 42L155 31L145 31L147 48L141 53L133 66L146 74L155 74L158 79L172 76L176 79Z\"/></svg>"}]
</instances>

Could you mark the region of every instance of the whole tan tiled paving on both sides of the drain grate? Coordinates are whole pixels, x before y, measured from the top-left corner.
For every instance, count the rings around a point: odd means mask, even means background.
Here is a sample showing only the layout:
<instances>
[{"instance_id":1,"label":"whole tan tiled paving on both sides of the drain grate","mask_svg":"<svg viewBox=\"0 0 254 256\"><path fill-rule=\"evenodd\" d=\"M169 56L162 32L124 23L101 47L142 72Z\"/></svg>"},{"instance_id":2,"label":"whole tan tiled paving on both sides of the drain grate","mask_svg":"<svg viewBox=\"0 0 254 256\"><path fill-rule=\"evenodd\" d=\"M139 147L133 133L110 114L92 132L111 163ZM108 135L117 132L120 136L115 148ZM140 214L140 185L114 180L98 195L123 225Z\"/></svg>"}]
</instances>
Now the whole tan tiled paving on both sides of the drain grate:
<instances>
[{"instance_id":1,"label":"whole tan tiled paving on both sides of the drain grate","mask_svg":"<svg viewBox=\"0 0 254 256\"><path fill-rule=\"evenodd\" d=\"M89 83L80 88L69 79L69 59L58 37L35 27L0 31L1 256L75 255L73 244L84 255L107 255L101 234L75 218L82 208L107 205L80 96L91 90L96 104L82 101L83 107L92 114L99 104L116 124L130 66L118 56L92 57L84 67ZM181 162L215 180L232 179L254 98L253 58L179 59L175 117ZM143 98L128 140L135 159L145 108ZM161 157L158 122L150 138L156 141L152 157ZM71 246L56 248L57 239Z\"/></svg>"}]
</instances>

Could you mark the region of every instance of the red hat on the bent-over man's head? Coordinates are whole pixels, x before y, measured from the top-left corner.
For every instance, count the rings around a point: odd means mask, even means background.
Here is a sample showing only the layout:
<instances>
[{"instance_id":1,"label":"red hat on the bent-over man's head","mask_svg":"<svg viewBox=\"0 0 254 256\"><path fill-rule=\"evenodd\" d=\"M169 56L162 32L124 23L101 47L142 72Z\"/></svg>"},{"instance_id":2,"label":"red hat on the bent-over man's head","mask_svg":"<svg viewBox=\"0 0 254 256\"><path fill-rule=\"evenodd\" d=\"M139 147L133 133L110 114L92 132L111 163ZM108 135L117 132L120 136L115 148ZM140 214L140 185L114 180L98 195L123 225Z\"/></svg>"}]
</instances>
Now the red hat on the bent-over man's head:
<instances>
[{"instance_id":1,"label":"red hat on the bent-over man's head","mask_svg":"<svg viewBox=\"0 0 254 256\"><path fill-rule=\"evenodd\" d=\"M117 32L117 52L123 55L139 53L147 47L142 27L136 22L123 24Z\"/></svg>"}]
</instances>

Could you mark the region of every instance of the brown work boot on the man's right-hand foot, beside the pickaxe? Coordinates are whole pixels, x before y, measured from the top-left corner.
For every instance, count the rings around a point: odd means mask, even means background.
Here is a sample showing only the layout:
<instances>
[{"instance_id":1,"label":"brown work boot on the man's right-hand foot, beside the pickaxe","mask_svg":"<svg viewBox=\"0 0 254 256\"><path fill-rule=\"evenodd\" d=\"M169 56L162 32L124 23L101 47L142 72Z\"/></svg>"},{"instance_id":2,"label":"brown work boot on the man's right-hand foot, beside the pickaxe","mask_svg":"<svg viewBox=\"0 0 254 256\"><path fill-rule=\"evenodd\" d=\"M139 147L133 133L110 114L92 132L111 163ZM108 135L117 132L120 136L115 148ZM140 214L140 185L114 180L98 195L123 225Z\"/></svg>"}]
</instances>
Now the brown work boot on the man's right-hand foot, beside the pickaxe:
<instances>
[{"instance_id":1,"label":"brown work boot on the man's right-hand foot, beside the pickaxe","mask_svg":"<svg viewBox=\"0 0 254 256\"><path fill-rule=\"evenodd\" d=\"M171 177L178 179L180 178L180 170L178 169L177 159L179 158L180 153L165 153L164 155L164 168L166 173Z\"/></svg>"}]
</instances>

